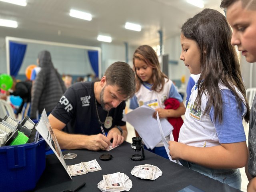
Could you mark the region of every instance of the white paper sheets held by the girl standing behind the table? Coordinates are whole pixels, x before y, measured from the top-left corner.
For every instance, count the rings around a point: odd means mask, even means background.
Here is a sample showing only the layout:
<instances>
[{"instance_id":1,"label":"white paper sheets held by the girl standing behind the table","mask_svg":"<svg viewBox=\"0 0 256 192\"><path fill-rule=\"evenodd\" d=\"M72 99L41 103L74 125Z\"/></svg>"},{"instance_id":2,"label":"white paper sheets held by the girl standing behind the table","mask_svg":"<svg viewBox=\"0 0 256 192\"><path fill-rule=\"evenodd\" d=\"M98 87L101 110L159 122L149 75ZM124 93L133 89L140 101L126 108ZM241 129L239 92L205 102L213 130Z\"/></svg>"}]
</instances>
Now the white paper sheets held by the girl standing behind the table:
<instances>
[{"instance_id":1,"label":"white paper sheets held by the girl standing behind the table","mask_svg":"<svg viewBox=\"0 0 256 192\"><path fill-rule=\"evenodd\" d=\"M122 119L129 122L138 132L147 148L153 149L161 140L158 122L152 117L155 110L147 105L140 106L129 112ZM169 136L173 130L166 118L161 118L164 136Z\"/></svg>"}]
</instances>

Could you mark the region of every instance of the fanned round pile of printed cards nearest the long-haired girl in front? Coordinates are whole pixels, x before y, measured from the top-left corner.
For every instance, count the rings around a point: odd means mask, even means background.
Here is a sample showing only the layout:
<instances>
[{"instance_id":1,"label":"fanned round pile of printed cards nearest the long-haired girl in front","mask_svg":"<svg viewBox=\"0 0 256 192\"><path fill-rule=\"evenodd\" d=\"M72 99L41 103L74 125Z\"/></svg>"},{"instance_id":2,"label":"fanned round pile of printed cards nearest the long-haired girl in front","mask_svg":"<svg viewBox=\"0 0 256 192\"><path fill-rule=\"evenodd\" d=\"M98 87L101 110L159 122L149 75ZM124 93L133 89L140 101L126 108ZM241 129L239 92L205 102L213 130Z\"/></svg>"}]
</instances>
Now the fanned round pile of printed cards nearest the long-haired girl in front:
<instances>
[{"instance_id":1,"label":"fanned round pile of printed cards nearest the long-haired girl in front","mask_svg":"<svg viewBox=\"0 0 256 192\"><path fill-rule=\"evenodd\" d=\"M150 180L155 180L162 176L162 173L163 172L158 167L150 164L135 166L131 171L131 174L138 178Z\"/></svg>"}]
</instances>

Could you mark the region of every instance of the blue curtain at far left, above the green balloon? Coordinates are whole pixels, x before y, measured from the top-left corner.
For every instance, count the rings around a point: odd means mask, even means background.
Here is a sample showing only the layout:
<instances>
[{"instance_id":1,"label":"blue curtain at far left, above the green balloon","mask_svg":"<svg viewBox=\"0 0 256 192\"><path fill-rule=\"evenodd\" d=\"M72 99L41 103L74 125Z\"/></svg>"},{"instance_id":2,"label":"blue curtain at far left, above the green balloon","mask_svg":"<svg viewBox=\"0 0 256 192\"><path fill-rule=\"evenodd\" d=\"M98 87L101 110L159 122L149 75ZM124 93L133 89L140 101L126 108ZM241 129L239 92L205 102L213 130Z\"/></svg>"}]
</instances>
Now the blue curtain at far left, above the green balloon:
<instances>
[{"instance_id":1,"label":"blue curtain at far left, above the green balloon","mask_svg":"<svg viewBox=\"0 0 256 192\"><path fill-rule=\"evenodd\" d=\"M26 44L10 42L10 75L16 77L25 56Z\"/></svg>"}]
</instances>

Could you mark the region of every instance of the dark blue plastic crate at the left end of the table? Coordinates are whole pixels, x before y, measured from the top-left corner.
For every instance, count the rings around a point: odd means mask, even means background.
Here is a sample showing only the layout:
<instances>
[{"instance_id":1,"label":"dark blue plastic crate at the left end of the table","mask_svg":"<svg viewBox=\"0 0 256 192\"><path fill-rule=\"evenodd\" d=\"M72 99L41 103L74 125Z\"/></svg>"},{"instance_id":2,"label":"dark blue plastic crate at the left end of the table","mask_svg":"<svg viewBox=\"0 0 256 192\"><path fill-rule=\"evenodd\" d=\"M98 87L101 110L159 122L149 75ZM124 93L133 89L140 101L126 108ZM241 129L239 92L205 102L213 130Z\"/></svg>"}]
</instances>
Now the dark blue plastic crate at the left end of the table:
<instances>
[{"instance_id":1,"label":"dark blue plastic crate at the left end of the table","mask_svg":"<svg viewBox=\"0 0 256 192\"><path fill-rule=\"evenodd\" d=\"M0 191L33 190L45 169L45 141L0 147Z\"/></svg>"}]
</instances>

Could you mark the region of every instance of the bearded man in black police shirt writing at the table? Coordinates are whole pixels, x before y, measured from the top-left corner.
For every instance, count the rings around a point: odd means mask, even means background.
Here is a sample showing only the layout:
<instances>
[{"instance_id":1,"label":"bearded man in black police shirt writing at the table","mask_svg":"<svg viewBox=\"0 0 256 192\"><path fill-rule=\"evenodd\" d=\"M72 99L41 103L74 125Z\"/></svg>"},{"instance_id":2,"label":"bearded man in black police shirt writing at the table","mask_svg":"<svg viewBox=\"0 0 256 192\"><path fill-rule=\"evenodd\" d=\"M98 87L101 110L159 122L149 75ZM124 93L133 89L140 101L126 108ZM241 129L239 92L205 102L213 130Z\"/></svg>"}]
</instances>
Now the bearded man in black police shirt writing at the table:
<instances>
[{"instance_id":1,"label":"bearded man in black police shirt writing at the table","mask_svg":"<svg viewBox=\"0 0 256 192\"><path fill-rule=\"evenodd\" d=\"M134 92L134 71L124 62L110 65L99 82L68 88L48 117L60 148L96 151L108 148L110 140L112 147L122 144L127 137L125 101Z\"/></svg>"}]
</instances>

